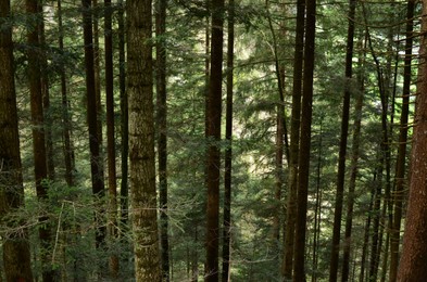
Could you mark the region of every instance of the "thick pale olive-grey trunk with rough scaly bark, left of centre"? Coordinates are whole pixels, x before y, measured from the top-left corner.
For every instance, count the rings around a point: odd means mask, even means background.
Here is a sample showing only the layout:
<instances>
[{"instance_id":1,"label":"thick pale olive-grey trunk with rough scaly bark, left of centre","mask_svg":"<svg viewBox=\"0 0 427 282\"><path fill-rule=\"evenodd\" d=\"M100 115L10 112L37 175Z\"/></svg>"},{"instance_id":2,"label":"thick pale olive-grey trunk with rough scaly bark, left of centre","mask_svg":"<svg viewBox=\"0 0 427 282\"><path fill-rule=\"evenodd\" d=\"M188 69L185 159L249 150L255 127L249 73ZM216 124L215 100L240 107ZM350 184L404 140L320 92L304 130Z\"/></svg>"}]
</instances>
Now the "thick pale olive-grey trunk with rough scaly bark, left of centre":
<instances>
[{"instance_id":1,"label":"thick pale olive-grey trunk with rough scaly bark, left of centre","mask_svg":"<svg viewBox=\"0 0 427 282\"><path fill-rule=\"evenodd\" d=\"M161 281L155 198L151 0L127 2L127 90L136 281Z\"/></svg>"}]
</instances>

